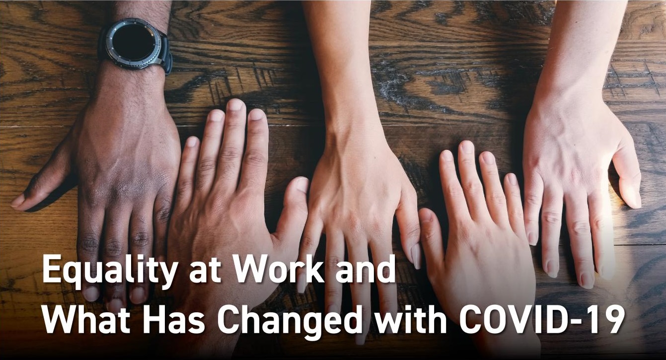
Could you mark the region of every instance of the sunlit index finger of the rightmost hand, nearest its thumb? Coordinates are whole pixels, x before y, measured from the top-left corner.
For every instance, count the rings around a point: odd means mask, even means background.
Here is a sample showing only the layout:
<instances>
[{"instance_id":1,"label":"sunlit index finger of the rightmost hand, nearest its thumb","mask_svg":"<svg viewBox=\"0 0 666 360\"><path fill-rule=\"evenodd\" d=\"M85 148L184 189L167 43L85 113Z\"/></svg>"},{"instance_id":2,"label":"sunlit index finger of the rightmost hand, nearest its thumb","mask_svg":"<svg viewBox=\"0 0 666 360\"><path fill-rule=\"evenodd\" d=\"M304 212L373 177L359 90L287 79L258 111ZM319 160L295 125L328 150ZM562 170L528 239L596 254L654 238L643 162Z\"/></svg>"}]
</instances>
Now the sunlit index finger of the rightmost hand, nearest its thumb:
<instances>
[{"instance_id":1,"label":"sunlit index finger of the rightmost hand, nearest its thumb","mask_svg":"<svg viewBox=\"0 0 666 360\"><path fill-rule=\"evenodd\" d=\"M615 248L613 246L613 214L608 192L593 192L587 197L589 222L592 228L594 263L604 279L615 274Z\"/></svg>"}]
</instances>

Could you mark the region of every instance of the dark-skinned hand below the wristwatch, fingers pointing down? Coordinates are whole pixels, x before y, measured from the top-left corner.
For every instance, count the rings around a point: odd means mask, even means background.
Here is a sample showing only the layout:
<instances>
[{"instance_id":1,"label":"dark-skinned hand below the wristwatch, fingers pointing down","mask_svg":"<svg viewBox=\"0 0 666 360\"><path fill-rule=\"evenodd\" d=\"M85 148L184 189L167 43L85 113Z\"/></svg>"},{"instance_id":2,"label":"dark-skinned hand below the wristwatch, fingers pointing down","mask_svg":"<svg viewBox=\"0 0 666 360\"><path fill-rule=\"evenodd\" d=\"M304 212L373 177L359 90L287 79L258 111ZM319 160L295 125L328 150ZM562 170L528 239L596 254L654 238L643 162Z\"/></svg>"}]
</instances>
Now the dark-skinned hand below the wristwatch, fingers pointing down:
<instances>
[{"instance_id":1,"label":"dark-skinned hand below the wristwatch, fingers pointing down","mask_svg":"<svg viewBox=\"0 0 666 360\"><path fill-rule=\"evenodd\" d=\"M125 254L134 261L139 254L144 260L163 256L180 156L178 131L164 100L164 78L159 67L129 71L105 61L96 96L11 203L15 210L29 210L74 176L79 183L77 254L79 261L93 263L93 272L98 261L125 266ZM82 291L87 301L95 301L99 284L84 283ZM125 283L106 284L107 309L126 307L126 292ZM147 282L135 283L129 298L140 304L148 294Z\"/></svg>"}]
</instances>

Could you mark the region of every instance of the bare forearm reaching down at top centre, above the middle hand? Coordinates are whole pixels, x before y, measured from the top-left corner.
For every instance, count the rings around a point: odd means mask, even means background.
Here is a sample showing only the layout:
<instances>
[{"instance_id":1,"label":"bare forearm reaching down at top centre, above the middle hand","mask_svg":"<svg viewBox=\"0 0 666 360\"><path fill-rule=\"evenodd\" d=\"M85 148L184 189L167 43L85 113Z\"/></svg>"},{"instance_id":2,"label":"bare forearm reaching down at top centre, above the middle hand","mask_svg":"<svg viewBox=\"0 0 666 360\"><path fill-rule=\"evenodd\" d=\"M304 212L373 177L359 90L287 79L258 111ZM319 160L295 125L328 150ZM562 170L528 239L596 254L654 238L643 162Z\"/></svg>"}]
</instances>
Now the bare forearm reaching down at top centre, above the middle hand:
<instances>
[{"instance_id":1,"label":"bare forearm reaching down at top centre, above the middle hand","mask_svg":"<svg viewBox=\"0 0 666 360\"><path fill-rule=\"evenodd\" d=\"M370 1L304 1L303 8L327 134L381 131L368 52Z\"/></svg>"}]
</instances>

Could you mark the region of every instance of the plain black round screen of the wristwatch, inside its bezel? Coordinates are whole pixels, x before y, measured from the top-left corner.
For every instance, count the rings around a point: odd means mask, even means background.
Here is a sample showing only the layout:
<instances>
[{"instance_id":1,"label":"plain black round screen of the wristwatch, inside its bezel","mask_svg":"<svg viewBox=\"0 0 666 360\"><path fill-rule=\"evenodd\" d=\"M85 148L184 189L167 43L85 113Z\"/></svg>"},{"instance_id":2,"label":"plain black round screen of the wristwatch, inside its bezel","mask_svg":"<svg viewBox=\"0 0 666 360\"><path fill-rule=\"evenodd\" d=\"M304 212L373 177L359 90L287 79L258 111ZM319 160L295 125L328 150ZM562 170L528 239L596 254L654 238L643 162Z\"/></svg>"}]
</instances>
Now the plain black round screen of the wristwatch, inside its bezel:
<instances>
[{"instance_id":1,"label":"plain black round screen of the wristwatch, inside its bezel","mask_svg":"<svg viewBox=\"0 0 666 360\"><path fill-rule=\"evenodd\" d=\"M113 49L129 61L140 61L153 53L155 38L143 25L128 24L118 29L111 40Z\"/></svg>"}]
</instances>

